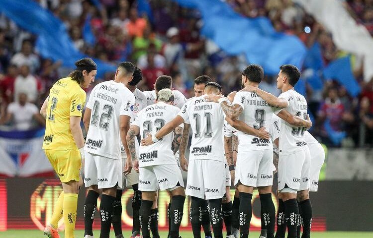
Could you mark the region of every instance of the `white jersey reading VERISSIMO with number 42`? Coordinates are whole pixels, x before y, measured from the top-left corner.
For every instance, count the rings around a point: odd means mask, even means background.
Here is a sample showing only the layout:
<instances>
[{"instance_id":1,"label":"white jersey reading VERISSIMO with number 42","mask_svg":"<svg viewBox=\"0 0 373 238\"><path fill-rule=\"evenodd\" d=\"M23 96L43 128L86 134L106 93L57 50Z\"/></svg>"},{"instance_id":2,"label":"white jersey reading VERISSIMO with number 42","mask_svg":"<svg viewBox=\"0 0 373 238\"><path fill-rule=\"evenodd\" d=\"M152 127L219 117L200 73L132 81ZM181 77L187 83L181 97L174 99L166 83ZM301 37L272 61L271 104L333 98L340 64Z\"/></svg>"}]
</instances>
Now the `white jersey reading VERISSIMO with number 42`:
<instances>
[{"instance_id":1,"label":"white jersey reading VERISSIMO with number 42","mask_svg":"<svg viewBox=\"0 0 373 238\"><path fill-rule=\"evenodd\" d=\"M119 117L133 117L131 107L135 96L113 80L97 84L90 95L87 108L91 109L90 128L85 150L87 152L120 160Z\"/></svg>"}]
</instances>

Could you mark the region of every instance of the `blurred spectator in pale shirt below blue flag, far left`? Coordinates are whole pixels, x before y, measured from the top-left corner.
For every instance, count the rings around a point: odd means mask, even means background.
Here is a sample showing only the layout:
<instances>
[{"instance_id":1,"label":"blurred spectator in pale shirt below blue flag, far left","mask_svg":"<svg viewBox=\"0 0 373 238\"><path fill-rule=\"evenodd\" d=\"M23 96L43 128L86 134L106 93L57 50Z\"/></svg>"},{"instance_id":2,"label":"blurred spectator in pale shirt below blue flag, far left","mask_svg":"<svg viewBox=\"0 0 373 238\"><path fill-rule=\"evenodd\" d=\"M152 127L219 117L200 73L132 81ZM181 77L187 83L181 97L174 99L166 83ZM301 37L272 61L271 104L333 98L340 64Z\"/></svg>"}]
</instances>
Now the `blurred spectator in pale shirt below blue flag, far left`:
<instances>
[{"instance_id":1,"label":"blurred spectator in pale shirt below blue flag, far left","mask_svg":"<svg viewBox=\"0 0 373 238\"><path fill-rule=\"evenodd\" d=\"M23 41L21 52L15 54L10 62L18 67L21 65L28 65L32 73L35 72L40 65L38 56L33 53L31 42L27 40Z\"/></svg>"}]
</instances>

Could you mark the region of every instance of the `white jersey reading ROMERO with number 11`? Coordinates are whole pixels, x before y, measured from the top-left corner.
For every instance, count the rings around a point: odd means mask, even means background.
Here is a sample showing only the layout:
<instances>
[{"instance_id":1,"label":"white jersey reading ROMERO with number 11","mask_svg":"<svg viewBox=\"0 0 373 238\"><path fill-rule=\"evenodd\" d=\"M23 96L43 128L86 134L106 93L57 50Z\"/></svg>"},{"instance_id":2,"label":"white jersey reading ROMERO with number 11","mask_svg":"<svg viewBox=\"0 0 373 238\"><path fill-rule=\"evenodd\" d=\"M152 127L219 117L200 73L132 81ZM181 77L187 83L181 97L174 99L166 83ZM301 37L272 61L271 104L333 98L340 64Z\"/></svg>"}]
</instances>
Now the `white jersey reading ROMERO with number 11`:
<instances>
[{"instance_id":1,"label":"white jersey reading ROMERO with number 11","mask_svg":"<svg viewBox=\"0 0 373 238\"><path fill-rule=\"evenodd\" d=\"M192 128L189 160L224 162L224 112L218 103L205 102L205 95L184 104L179 115Z\"/></svg>"}]
</instances>

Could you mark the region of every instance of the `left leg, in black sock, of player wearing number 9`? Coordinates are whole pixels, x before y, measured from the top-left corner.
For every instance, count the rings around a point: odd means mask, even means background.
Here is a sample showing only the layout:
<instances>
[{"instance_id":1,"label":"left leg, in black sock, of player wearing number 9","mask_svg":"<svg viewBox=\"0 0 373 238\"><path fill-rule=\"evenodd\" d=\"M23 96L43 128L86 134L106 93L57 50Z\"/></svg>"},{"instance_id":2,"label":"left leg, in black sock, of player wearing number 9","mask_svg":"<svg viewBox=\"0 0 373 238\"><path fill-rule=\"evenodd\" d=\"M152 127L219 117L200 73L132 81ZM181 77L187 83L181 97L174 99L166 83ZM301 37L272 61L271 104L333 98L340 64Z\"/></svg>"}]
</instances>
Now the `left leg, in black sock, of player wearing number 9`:
<instances>
[{"instance_id":1,"label":"left leg, in black sock, of player wearing number 9","mask_svg":"<svg viewBox=\"0 0 373 238\"><path fill-rule=\"evenodd\" d=\"M245 186L238 183L238 191L240 192L240 209L239 209L239 221L240 221L240 236L241 238L249 237L250 221L252 216L251 199L253 198L254 187Z\"/></svg>"}]
</instances>

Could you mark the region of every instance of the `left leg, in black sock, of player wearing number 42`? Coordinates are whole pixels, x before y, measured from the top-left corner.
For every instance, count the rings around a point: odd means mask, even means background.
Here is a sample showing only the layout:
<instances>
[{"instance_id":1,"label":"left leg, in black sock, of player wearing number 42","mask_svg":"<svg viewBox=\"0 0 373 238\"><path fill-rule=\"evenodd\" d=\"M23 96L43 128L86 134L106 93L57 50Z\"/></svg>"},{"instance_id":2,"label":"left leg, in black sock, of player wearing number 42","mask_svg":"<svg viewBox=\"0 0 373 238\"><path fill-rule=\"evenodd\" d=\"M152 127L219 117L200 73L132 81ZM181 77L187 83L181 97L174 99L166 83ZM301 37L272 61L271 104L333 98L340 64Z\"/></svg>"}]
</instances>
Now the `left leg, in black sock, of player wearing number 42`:
<instances>
[{"instance_id":1,"label":"left leg, in black sock, of player wearing number 42","mask_svg":"<svg viewBox=\"0 0 373 238\"><path fill-rule=\"evenodd\" d=\"M100 190L97 185L91 185L88 187L88 193L86 201L84 203L84 237L93 238L93 220L94 215L97 212L97 199L100 194Z\"/></svg>"}]
</instances>

